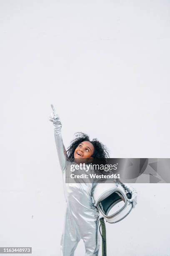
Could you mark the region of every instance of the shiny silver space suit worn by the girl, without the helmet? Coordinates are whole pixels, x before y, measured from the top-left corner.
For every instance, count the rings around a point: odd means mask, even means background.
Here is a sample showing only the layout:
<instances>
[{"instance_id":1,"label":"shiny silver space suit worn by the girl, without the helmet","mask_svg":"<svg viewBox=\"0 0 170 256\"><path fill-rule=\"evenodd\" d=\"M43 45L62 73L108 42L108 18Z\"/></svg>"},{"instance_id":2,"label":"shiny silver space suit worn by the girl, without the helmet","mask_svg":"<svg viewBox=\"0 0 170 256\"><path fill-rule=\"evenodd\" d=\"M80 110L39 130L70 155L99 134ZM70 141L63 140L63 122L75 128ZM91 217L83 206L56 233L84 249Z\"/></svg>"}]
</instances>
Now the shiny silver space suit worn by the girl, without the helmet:
<instances>
[{"instance_id":1,"label":"shiny silver space suit worn by the girl, without the helmet","mask_svg":"<svg viewBox=\"0 0 170 256\"><path fill-rule=\"evenodd\" d=\"M66 198L66 214L64 231L61 238L61 255L74 256L75 249L80 239L85 244L85 256L99 255L99 211L92 203L92 183L65 183L66 168L70 161L62 142L61 122L53 110L49 119L54 125L55 142L58 158L62 169L62 178Z\"/></svg>"}]
</instances>

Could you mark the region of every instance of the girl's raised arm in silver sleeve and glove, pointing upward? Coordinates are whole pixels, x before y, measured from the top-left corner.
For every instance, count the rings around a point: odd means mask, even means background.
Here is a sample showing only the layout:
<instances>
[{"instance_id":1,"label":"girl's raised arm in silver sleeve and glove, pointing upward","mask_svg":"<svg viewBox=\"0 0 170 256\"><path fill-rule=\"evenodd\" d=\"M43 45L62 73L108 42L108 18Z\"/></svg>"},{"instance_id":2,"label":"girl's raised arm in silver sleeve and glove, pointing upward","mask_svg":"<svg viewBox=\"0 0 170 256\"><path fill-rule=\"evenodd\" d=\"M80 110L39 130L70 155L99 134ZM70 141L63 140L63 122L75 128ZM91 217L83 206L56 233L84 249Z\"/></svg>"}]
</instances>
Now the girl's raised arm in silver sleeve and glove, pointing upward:
<instances>
[{"instance_id":1,"label":"girl's raised arm in silver sleeve and glove, pointing upward","mask_svg":"<svg viewBox=\"0 0 170 256\"><path fill-rule=\"evenodd\" d=\"M62 142L62 135L61 135L61 122L59 116L56 114L55 109L53 105L51 105L53 112L50 115L49 120L52 122L54 125L54 136L55 136L55 143L57 147L57 153L58 153L58 158L60 161L60 166L62 169L62 172L65 169L65 164L67 160L67 153L64 147L64 144Z\"/></svg>"}]
</instances>

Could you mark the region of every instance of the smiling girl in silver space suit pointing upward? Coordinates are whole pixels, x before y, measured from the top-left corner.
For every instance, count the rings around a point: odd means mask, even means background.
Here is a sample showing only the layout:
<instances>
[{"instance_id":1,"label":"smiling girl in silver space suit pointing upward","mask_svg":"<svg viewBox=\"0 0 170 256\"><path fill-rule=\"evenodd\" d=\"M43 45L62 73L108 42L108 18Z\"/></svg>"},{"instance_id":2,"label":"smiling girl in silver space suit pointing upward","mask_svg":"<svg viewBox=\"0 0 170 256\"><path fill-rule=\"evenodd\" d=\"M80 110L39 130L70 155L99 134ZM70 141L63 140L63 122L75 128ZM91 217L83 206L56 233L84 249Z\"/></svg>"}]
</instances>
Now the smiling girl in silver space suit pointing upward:
<instances>
[{"instance_id":1,"label":"smiling girl in silver space suit pointing upward","mask_svg":"<svg viewBox=\"0 0 170 256\"><path fill-rule=\"evenodd\" d=\"M97 139L90 141L84 133L77 133L70 147L65 150L61 135L61 122L51 105L50 121L54 125L55 143L62 169L67 203L64 232L61 239L61 255L74 256L80 239L85 244L85 256L97 256L100 248L99 212L92 203L92 183L65 183L65 172L72 161L109 157L107 148Z\"/></svg>"}]
</instances>

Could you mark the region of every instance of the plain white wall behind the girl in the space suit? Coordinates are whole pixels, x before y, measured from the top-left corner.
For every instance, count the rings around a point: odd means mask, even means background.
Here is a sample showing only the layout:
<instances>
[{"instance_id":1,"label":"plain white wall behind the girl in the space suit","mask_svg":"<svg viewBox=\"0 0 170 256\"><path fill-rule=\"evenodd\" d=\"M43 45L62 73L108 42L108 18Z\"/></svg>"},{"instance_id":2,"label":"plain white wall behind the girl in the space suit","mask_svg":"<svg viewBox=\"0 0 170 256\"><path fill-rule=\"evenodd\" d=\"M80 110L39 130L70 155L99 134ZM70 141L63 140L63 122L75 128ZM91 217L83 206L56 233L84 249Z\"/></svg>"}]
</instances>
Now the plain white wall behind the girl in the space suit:
<instances>
[{"instance_id":1,"label":"plain white wall behind the girl in the space suit","mask_svg":"<svg viewBox=\"0 0 170 256\"><path fill-rule=\"evenodd\" d=\"M0 246L60 255L65 201L52 124L110 157L170 157L170 1L0 0ZM108 256L168 256L170 184L134 184ZM75 253L83 255L81 242Z\"/></svg>"}]
</instances>

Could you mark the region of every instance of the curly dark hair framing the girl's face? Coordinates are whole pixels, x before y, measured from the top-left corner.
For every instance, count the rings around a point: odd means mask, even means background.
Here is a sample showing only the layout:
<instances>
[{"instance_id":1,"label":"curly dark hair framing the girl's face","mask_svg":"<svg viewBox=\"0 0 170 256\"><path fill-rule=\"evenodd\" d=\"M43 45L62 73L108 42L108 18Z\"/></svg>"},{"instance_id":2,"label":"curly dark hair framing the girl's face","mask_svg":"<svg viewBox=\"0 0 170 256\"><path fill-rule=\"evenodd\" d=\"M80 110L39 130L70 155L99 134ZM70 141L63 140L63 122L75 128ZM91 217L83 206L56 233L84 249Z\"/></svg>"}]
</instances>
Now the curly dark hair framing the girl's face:
<instances>
[{"instance_id":1,"label":"curly dark hair framing the girl's face","mask_svg":"<svg viewBox=\"0 0 170 256\"><path fill-rule=\"evenodd\" d=\"M109 152L105 145L103 145L97 138L94 138L90 141L90 138L87 134L82 132L75 133L75 139L71 141L70 146L67 148L67 156L70 161L74 160L74 152L77 146L83 141L89 141L94 146L95 150L92 154L94 159L106 159L109 158Z\"/></svg>"}]
</instances>

